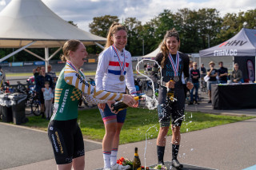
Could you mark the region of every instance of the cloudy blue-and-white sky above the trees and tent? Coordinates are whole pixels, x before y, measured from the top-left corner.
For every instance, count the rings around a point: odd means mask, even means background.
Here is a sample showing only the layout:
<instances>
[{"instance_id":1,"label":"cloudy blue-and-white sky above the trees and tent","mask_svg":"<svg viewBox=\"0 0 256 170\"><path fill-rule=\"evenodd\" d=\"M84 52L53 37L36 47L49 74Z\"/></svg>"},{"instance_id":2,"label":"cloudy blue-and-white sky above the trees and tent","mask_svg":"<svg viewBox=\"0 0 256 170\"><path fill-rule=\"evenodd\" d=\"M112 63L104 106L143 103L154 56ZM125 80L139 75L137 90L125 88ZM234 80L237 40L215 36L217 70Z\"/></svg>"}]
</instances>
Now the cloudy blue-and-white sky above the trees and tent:
<instances>
[{"instance_id":1,"label":"cloudy blue-and-white sky above the trees and tent","mask_svg":"<svg viewBox=\"0 0 256 170\"><path fill-rule=\"evenodd\" d=\"M15 0L13 0L15 1ZM33 1L33 0L31 0ZM0 12L10 0L0 0ZM122 18L137 18L142 24L149 22L163 10L215 8L221 16L226 13L254 10L255 0L42 0L54 13L66 21L73 21L82 30L89 31L94 17L106 14Z\"/></svg>"}]
</instances>

